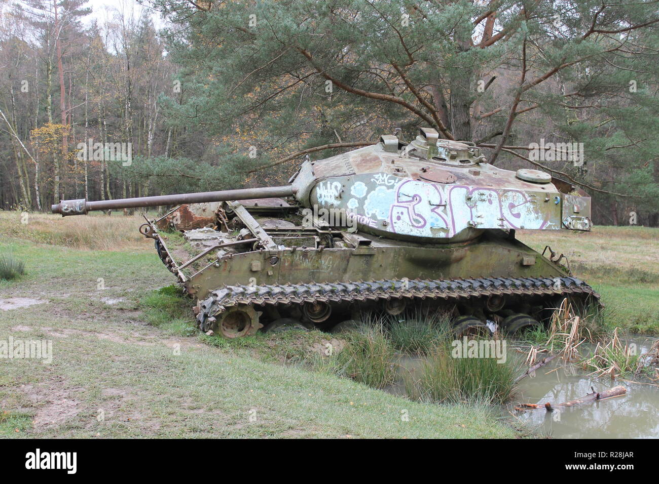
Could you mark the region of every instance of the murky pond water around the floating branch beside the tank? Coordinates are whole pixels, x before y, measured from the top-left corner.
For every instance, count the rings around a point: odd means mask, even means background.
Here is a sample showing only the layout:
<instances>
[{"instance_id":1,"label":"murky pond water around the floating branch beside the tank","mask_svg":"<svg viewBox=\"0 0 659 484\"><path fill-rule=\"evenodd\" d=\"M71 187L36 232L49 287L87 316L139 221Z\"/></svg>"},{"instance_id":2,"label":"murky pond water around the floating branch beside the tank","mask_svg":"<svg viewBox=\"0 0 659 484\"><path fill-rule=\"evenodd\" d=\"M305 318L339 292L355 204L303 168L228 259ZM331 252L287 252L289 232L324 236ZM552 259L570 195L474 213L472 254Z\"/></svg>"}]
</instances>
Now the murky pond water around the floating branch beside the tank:
<instances>
[{"instance_id":1,"label":"murky pond water around the floating branch beside the tank","mask_svg":"<svg viewBox=\"0 0 659 484\"><path fill-rule=\"evenodd\" d=\"M639 354L647 352L652 345L652 340L645 336L627 338L626 341L635 343ZM418 371L420 359L403 355L398 363L397 380L387 391L405 396L403 373ZM502 408L501 413L510 416L509 412L520 403L544 406L550 402L555 405L586 396L592 392L591 387L601 391L621 385L627 389L626 394L602 402L558 408L554 412L541 408L513 414L529 428L555 439L659 438L658 387L612 381L610 378L593 379L586 373L588 371L581 367L565 365L563 360L556 358L538 369L534 377L519 381L517 402ZM639 377L639 381L645 380Z\"/></svg>"}]
</instances>

